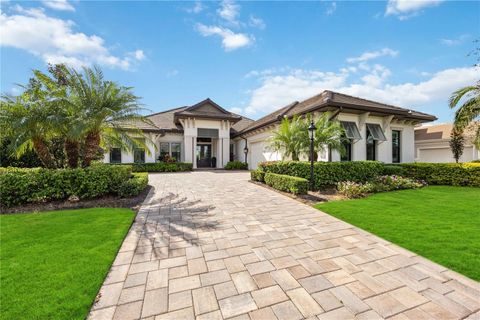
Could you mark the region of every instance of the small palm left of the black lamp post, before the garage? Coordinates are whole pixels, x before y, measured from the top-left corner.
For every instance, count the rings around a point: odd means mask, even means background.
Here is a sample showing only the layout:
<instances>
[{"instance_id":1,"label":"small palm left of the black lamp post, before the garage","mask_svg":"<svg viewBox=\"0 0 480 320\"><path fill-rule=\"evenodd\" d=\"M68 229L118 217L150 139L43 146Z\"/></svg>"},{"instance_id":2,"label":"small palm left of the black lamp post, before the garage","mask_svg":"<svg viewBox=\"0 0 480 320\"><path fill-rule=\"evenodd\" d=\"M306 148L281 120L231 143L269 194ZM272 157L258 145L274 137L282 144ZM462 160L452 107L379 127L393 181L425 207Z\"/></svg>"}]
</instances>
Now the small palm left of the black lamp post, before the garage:
<instances>
[{"instance_id":1,"label":"small palm left of the black lamp post, before the garage","mask_svg":"<svg viewBox=\"0 0 480 320\"><path fill-rule=\"evenodd\" d=\"M291 157L292 160L298 161L302 152L304 135L302 131L303 120L300 117L294 116L292 120L285 117L282 119L278 129L273 131L273 136L268 141L268 148L272 151L280 152L283 157Z\"/></svg>"}]
</instances>

